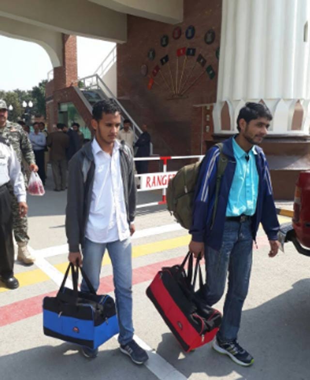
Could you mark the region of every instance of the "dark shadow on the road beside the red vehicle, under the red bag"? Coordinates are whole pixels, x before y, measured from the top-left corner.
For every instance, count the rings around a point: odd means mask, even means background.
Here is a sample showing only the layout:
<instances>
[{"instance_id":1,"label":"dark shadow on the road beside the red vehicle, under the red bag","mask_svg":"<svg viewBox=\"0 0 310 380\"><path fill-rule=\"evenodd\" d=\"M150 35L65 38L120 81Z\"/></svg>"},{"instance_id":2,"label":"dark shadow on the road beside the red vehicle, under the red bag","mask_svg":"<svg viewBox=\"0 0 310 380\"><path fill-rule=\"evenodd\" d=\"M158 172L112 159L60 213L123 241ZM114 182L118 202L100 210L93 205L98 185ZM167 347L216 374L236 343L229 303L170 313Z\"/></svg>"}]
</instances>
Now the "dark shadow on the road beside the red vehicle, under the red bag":
<instances>
[{"instance_id":1,"label":"dark shadow on the road beside the red vehicle, under the red bag","mask_svg":"<svg viewBox=\"0 0 310 380\"><path fill-rule=\"evenodd\" d=\"M211 344L183 354L171 333L162 335L157 352L187 378L205 373L212 379L309 380L310 279L297 281L291 290L245 310L239 341L254 356L251 367L233 363Z\"/></svg>"}]
</instances>

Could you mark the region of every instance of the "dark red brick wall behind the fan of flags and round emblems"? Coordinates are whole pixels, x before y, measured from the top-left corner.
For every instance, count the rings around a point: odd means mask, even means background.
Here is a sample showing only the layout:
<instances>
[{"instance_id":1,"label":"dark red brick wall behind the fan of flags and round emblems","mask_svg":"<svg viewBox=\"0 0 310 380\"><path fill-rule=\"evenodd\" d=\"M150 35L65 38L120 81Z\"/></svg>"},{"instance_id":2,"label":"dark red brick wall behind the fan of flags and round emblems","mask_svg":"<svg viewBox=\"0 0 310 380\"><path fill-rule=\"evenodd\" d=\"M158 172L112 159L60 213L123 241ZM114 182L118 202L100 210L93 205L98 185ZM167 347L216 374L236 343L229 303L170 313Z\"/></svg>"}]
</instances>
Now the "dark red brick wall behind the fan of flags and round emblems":
<instances>
[{"instance_id":1,"label":"dark red brick wall behind the fan of flags and round emblems","mask_svg":"<svg viewBox=\"0 0 310 380\"><path fill-rule=\"evenodd\" d=\"M170 67L175 83L176 50L183 47L196 48L196 56L186 60L183 83L190 72L193 63L201 52L208 65L212 65L216 74L218 61L215 55L220 42L221 1L218 0L184 0L184 22L169 25L148 19L128 16L128 41L117 48L117 83L118 96L130 99L139 108L139 119L149 126L149 132L154 143L154 151L158 154L197 154L200 153L202 134L202 111L194 110L194 104L212 103L216 101L217 75L210 80L206 73L202 75L183 99L168 99L169 93L165 82L158 73L151 90L147 89L149 77L143 77L140 68L148 66L149 74L158 64L167 81L170 78L168 64L160 65L160 58L169 54ZM194 38L185 37L186 28L195 27ZM182 28L179 39L172 38L176 26ZM209 29L216 33L211 45L204 42L204 35ZM160 37L168 34L169 45L160 46ZM155 59L147 58L148 51L155 49ZM179 78L185 57L179 58ZM192 83L202 72L199 64L195 65L189 83ZM127 100L128 101L128 100ZM199 114L198 116L196 114ZM132 115L135 117L135 115Z\"/></svg>"}]
</instances>

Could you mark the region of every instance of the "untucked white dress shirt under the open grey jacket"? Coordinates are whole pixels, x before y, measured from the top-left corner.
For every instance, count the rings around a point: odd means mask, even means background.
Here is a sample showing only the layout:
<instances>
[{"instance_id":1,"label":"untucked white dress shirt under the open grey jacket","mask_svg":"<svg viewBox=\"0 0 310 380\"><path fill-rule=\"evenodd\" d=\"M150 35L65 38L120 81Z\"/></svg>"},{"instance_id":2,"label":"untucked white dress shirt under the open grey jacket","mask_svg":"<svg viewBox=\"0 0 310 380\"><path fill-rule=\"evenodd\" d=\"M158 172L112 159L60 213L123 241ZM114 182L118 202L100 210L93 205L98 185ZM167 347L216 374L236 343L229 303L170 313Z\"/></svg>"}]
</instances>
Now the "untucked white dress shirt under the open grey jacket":
<instances>
[{"instance_id":1,"label":"untucked white dress shirt under the open grey jacket","mask_svg":"<svg viewBox=\"0 0 310 380\"><path fill-rule=\"evenodd\" d=\"M92 142L95 173L90 213L85 236L94 243L109 243L130 236L120 165L120 143L115 141L112 156L96 139Z\"/></svg>"}]
</instances>

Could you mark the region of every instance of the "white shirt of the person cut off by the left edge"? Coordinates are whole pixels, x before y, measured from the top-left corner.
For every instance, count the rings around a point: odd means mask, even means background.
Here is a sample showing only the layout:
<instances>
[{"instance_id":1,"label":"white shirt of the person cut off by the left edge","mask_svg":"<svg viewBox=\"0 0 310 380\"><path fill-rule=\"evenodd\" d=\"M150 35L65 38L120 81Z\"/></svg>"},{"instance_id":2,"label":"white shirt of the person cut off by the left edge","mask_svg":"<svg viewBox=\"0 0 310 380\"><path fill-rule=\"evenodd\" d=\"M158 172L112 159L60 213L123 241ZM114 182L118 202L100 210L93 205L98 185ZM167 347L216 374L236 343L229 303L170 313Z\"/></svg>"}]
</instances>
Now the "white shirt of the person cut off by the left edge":
<instances>
[{"instance_id":1,"label":"white shirt of the person cut off by the left edge","mask_svg":"<svg viewBox=\"0 0 310 380\"><path fill-rule=\"evenodd\" d=\"M12 146L0 142L0 186L11 181L18 202L26 202L25 182Z\"/></svg>"}]
</instances>

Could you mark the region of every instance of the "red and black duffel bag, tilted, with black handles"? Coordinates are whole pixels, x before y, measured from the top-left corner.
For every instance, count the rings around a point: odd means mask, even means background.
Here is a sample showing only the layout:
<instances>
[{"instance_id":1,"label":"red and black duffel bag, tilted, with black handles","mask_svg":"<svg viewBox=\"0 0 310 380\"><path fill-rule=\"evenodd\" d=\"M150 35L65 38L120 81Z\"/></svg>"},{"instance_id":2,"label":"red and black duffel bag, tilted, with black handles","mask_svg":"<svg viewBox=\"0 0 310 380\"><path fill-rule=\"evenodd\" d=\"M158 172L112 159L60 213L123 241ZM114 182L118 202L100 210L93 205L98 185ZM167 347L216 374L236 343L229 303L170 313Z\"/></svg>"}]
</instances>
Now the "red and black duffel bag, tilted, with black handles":
<instances>
[{"instance_id":1,"label":"red and black duffel bag, tilted, with black handles","mask_svg":"<svg viewBox=\"0 0 310 380\"><path fill-rule=\"evenodd\" d=\"M187 260L186 273L184 267ZM197 274L200 288L195 292ZM192 277L193 255L188 252L181 265L163 267L146 289L146 295L186 352L210 342L221 323L220 312L207 306L202 297L199 259L196 261L193 280Z\"/></svg>"}]
</instances>

